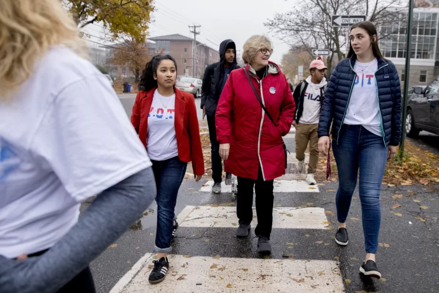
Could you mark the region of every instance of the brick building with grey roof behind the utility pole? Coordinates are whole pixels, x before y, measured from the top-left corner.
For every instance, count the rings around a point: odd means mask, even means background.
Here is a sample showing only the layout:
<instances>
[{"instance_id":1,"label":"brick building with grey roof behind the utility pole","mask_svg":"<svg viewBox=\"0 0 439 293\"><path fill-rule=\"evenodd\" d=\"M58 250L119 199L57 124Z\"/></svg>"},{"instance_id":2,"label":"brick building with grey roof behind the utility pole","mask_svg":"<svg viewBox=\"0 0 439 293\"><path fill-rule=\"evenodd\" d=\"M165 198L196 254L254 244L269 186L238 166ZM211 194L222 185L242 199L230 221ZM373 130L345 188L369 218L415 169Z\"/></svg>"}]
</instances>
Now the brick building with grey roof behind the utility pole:
<instances>
[{"instance_id":1,"label":"brick building with grey roof behind the utility pole","mask_svg":"<svg viewBox=\"0 0 439 293\"><path fill-rule=\"evenodd\" d=\"M193 44L192 38L180 34L149 38L152 52L161 52L174 57L177 62L177 75L202 78L207 65L220 61L220 52L197 41L194 70L192 70Z\"/></svg>"}]
</instances>

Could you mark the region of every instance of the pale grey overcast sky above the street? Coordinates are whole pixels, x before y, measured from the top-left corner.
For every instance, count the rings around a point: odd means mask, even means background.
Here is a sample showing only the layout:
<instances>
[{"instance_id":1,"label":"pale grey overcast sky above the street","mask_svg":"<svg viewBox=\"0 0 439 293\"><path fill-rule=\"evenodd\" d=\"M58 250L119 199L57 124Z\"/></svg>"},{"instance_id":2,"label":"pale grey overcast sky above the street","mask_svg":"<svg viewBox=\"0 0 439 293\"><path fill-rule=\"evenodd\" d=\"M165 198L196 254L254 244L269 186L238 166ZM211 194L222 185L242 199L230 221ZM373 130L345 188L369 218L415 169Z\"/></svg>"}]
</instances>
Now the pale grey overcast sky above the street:
<instances>
[{"instance_id":1,"label":"pale grey overcast sky above the street","mask_svg":"<svg viewBox=\"0 0 439 293\"><path fill-rule=\"evenodd\" d=\"M201 25L197 36L206 45L219 49L220 42L232 39L241 50L244 42L252 35L265 34L273 42L271 61L280 63L288 45L270 33L264 22L273 18L276 12L292 9L296 0L155 0L156 12L152 14L151 37L181 34L193 37L188 25ZM227 4L228 3L228 4ZM91 31L89 29L92 29ZM86 31L96 33L97 26ZM97 41L97 39L93 39ZM210 42L209 42L210 41ZM102 40L100 40L102 42ZM104 41L103 41L104 42ZM109 44L108 42L106 42Z\"/></svg>"}]
</instances>

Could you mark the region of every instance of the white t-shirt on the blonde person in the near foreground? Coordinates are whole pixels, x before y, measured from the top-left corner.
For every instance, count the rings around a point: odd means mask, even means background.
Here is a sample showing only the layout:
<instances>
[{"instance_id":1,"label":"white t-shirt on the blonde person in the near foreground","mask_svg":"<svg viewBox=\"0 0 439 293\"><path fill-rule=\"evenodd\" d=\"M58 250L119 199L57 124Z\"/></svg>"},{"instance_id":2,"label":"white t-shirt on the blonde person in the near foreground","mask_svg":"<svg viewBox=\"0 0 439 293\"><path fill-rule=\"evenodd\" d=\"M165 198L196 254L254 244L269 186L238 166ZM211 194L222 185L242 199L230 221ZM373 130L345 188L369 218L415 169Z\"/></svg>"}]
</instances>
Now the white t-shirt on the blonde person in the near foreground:
<instances>
[{"instance_id":1,"label":"white t-shirt on the blonde person in the near foreground","mask_svg":"<svg viewBox=\"0 0 439 293\"><path fill-rule=\"evenodd\" d=\"M0 254L52 247L80 203L151 166L108 80L67 48L49 51L0 101ZM0 93L1 95L1 93Z\"/></svg>"}]
</instances>

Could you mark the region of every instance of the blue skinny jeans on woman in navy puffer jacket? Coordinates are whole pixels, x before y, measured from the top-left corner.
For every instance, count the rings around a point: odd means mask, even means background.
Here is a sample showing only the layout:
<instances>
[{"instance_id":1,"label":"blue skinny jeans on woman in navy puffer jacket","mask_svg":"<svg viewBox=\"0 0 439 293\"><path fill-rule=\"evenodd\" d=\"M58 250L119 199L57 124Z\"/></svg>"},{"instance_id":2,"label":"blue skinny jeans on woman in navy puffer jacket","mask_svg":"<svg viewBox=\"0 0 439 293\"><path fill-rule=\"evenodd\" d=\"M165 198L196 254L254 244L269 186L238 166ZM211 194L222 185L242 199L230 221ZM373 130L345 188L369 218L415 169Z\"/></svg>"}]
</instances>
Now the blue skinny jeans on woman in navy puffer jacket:
<instances>
[{"instance_id":1,"label":"blue skinny jeans on woman in navy puffer jacket","mask_svg":"<svg viewBox=\"0 0 439 293\"><path fill-rule=\"evenodd\" d=\"M346 222L359 170L359 199L362 210L366 253L377 253L381 208L379 194L387 162L387 147L382 137L359 125L343 125L339 143L333 141L339 173L337 218Z\"/></svg>"}]
</instances>

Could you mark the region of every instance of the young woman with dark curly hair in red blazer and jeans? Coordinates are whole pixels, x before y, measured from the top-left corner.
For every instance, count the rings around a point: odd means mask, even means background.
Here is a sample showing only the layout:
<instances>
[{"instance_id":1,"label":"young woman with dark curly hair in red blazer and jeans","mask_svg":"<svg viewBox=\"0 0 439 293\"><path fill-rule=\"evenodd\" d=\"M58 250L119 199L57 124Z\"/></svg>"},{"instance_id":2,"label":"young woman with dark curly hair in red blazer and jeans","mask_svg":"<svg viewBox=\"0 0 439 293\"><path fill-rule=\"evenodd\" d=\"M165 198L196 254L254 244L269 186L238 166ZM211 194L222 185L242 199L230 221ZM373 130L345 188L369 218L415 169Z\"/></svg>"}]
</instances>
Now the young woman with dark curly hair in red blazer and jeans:
<instances>
[{"instance_id":1,"label":"young woman with dark curly hair in red blazer and jeans","mask_svg":"<svg viewBox=\"0 0 439 293\"><path fill-rule=\"evenodd\" d=\"M204 174L200 130L194 96L175 87L177 64L169 55L155 56L146 64L133 105L131 123L148 151L157 185L157 233L155 250L158 260L149 275L150 283L166 277L178 228L174 213L177 194L192 161L195 181Z\"/></svg>"}]
</instances>

